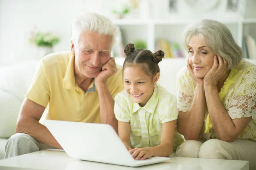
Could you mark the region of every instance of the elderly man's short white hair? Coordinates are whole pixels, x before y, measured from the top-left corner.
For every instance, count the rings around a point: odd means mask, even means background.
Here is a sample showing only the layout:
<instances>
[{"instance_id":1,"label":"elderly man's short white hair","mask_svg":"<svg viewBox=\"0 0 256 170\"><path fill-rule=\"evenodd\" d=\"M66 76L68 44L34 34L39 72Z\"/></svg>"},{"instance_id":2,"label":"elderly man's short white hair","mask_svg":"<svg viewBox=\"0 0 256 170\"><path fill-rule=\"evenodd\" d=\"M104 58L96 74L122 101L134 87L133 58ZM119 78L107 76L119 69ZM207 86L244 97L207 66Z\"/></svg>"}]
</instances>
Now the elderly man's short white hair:
<instances>
[{"instance_id":1,"label":"elderly man's short white hair","mask_svg":"<svg viewBox=\"0 0 256 170\"><path fill-rule=\"evenodd\" d=\"M81 35L85 31L93 31L99 35L112 36L112 47L118 35L118 29L113 22L108 18L96 13L80 14L72 23L71 40L74 44L78 44L81 40Z\"/></svg>"}]
</instances>

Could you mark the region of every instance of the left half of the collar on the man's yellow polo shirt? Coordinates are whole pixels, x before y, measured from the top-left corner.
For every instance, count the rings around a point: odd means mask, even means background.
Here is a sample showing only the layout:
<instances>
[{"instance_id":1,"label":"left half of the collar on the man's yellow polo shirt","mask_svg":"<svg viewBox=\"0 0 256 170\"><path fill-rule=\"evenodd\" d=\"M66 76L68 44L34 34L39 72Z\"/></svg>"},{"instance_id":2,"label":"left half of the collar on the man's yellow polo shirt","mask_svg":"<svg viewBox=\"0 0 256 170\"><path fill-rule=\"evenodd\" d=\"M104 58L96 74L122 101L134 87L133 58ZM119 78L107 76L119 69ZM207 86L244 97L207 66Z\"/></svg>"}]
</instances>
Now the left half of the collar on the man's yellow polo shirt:
<instances>
[{"instance_id":1,"label":"left half of the collar on the man's yellow polo shirt","mask_svg":"<svg viewBox=\"0 0 256 170\"><path fill-rule=\"evenodd\" d=\"M69 62L67 64L67 69L65 76L63 78L63 88L65 89L76 89L76 79L74 72L75 56L70 55Z\"/></svg>"}]
</instances>

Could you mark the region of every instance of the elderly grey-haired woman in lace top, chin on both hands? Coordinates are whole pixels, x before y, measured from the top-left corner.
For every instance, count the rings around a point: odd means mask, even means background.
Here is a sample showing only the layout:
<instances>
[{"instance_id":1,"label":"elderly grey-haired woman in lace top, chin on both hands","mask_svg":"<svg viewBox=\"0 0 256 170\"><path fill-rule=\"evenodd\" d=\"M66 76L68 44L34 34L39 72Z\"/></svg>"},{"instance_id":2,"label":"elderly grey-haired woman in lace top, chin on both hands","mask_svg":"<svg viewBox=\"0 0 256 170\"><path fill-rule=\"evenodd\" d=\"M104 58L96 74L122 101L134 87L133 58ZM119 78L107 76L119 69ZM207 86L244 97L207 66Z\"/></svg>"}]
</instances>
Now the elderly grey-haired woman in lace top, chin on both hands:
<instances>
[{"instance_id":1,"label":"elderly grey-haired woman in lace top, chin on both hands","mask_svg":"<svg viewBox=\"0 0 256 170\"><path fill-rule=\"evenodd\" d=\"M180 157L248 160L256 168L256 66L214 20L183 34L187 68L177 78Z\"/></svg>"}]
</instances>

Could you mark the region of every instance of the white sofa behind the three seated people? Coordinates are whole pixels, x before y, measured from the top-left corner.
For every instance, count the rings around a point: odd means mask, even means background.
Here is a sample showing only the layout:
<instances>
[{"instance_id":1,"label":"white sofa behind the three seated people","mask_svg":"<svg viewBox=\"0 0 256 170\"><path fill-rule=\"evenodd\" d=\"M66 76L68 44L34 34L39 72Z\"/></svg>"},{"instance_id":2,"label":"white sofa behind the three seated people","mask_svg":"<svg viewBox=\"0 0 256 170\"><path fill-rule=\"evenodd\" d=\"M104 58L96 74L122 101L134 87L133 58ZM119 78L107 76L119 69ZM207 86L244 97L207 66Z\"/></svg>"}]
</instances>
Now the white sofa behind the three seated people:
<instances>
[{"instance_id":1,"label":"white sofa behind the three seated people","mask_svg":"<svg viewBox=\"0 0 256 170\"><path fill-rule=\"evenodd\" d=\"M124 58L116 58L116 63L120 65L123 61ZM7 139L15 134L17 115L38 63L21 62L0 68L0 159L4 157ZM176 95L177 73L186 66L186 59L163 59L159 65L159 83Z\"/></svg>"}]
</instances>

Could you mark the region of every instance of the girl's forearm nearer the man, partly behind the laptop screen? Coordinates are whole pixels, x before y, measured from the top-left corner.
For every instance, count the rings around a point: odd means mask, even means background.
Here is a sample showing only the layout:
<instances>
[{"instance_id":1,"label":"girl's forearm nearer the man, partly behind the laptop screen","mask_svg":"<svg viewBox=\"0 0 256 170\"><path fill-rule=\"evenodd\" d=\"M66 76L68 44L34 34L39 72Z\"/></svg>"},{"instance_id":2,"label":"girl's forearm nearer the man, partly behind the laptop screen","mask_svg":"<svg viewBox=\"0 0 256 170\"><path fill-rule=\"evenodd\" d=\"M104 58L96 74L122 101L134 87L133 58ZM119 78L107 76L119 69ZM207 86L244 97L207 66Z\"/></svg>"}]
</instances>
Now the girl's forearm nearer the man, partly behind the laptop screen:
<instances>
[{"instance_id":1,"label":"girl's forearm nearer the man, partly behind the laptop screen","mask_svg":"<svg viewBox=\"0 0 256 170\"><path fill-rule=\"evenodd\" d=\"M131 150L130 147L130 122L118 121L118 135L122 142L125 144L125 147L128 150Z\"/></svg>"}]
</instances>

